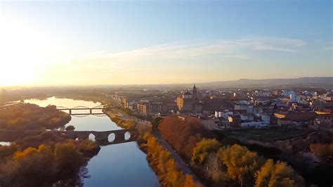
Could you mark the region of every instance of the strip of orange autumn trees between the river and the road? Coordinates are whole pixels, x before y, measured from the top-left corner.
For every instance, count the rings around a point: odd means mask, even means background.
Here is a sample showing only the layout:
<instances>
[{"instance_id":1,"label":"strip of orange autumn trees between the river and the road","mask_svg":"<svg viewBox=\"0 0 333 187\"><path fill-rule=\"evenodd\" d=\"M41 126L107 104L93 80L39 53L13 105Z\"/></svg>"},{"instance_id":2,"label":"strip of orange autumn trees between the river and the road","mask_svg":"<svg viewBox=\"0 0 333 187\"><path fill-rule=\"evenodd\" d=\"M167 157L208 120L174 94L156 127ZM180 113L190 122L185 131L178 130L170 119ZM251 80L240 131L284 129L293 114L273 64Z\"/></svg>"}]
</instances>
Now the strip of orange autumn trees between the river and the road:
<instances>
[{"instance_id":1,"label":"strip of orange autumn trees between the river and the road","mask_svg":"<svg viewBox=\"0 0 333 187\"><path fill-rule=\"evenodd\" d=\"M151 124L138 123L135 118L126 116L122 111L116 109L103 110L103 112L119 127L138 130L137 145L146 154L150 167L157 174L157 178L163 186L203 186L192 171L186 168L181 157L175 158L174 150L169 145L169 149L166 148L163 145L163 142L166 143L164 140L151 134ZM151 147L150 144L155 146Z\"/></svg>"}]
</instances>

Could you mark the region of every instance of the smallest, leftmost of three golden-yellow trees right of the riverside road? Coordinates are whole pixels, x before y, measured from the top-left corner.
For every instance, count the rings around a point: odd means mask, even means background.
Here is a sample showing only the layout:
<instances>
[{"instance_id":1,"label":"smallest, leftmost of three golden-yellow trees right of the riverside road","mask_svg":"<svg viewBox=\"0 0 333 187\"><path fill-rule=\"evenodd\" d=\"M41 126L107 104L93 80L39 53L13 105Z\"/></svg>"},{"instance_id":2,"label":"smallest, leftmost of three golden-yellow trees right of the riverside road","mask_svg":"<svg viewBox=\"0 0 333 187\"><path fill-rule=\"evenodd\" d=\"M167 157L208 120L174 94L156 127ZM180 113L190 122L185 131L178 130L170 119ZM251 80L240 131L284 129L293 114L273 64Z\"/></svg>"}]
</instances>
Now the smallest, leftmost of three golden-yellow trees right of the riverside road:
<instances>
[{"instance_id":1,"label":"smallest, leftmost of three golden-yellow trees right of the riverside road","mask_svg":"<svg viewBox=\"0 0 333 187\"><path fill-rule=\"evenodd\" d=\"M193 149L192 163L203 165L209 153L216 152L221 144L216 139L203 139Z\"/></svg>"}]
</instances>

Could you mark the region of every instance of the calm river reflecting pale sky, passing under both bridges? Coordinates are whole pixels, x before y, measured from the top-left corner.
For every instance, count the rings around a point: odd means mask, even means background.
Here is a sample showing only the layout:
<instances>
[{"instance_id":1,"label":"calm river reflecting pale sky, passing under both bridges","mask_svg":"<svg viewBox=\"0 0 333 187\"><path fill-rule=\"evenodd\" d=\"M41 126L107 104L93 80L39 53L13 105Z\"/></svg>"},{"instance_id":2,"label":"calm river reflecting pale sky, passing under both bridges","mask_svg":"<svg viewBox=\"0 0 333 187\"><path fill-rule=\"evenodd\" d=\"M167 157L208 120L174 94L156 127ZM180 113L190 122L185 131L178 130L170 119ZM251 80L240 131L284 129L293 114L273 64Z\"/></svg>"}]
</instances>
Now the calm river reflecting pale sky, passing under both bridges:
<instances>
[{"instance_id":1,"label":"calm river reflecting pale sky, passing under both bridges","mask_svg":"<svg viewBox=\"0 0 333 187\"><path fill-rule=\"evenodd\" d=\"M79 101L69 98L47 98L46 100L25 100L25 103L34 103L41 107L57 105L66 108L86 106L93 108L100 103L91 101ZM89 112L77 110L80 113ZM77 112L75 111L75 112ZM98 110L94 110L98 112ZM101 112L101 111L100 111ZM74 110L73 110L74 113ZM108 131L122 129L112 122L109 117L72 116L72 120L66 124L73 125L77 131ZM110 146L101 146L100 152L91 158L88 165L88 178L84 179L84 186L159 186L157 176L149 167L143 153L136 142L121 143Z\"/></svg>"}]
</instances>

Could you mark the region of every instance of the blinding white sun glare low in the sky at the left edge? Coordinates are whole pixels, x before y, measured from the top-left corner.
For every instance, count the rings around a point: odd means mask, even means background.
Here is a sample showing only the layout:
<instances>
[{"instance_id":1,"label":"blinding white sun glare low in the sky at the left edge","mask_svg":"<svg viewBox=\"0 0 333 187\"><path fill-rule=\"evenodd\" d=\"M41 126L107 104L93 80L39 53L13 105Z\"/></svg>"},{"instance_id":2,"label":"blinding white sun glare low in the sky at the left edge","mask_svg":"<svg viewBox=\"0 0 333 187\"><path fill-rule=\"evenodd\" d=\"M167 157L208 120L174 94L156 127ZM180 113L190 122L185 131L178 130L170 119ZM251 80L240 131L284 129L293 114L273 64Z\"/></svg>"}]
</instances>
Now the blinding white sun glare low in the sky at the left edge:
<instances>
[{"instance_id":1,"label":"blinding white sun glare low in the sky at the left edge","mask_svg":"<svg viewBox=\"0 0 333 187\"><path fill-rule=\"evenodd\" d=\"M31 84L52 46L30 22L0 17L0 86Z\"/></svg>"}]
</instances>

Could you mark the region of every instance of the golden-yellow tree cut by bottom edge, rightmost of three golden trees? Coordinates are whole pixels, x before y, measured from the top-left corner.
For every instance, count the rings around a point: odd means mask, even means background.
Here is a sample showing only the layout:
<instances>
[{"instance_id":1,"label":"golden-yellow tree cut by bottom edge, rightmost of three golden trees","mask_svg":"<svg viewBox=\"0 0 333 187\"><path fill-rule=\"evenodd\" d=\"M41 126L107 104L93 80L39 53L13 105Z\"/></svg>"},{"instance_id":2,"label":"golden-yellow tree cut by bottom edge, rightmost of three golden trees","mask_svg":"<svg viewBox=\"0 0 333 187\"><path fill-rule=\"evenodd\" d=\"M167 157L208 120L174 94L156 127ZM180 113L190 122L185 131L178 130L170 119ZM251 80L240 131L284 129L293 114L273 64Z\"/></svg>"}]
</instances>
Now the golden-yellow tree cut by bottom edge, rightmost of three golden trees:
<instances>
[{"instance_id":1,"label":"golden-yellow tree cut by bottom edge, rightmost of three golden trees","mask_svg":"<svg viewBox=\"0 0 333 187\"><path fill-rule=\"evenodd\" d=\"M304 186L303 178L294 172L285 162L268 159L256 173L256 187L296 187Z\"/></svg>"}]
</instances>

